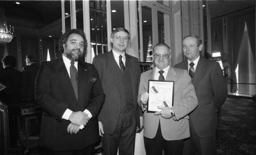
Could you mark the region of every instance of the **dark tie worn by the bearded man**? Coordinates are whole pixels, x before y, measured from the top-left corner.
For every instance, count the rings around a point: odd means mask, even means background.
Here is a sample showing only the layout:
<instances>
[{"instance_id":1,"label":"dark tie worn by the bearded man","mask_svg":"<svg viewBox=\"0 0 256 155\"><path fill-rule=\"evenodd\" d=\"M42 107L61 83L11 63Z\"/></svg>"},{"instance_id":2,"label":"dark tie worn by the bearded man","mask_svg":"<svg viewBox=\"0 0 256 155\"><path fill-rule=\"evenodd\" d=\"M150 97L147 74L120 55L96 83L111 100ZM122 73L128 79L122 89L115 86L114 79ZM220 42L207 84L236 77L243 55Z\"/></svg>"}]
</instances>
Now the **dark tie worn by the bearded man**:
<instances>
[{"instance_id":1,"label":"dark tie worn by the bearded man","mask_svg":"<svg viewBox=\"0 0 256 155\"><path fill-rule=\"evenodd\" d=\"M70 80L72 82L75 94L76 94L76 99L78 100L78 74L77 74L77 69L75 68L74 61L70 62Z\"/></svg>"}]
</instances>

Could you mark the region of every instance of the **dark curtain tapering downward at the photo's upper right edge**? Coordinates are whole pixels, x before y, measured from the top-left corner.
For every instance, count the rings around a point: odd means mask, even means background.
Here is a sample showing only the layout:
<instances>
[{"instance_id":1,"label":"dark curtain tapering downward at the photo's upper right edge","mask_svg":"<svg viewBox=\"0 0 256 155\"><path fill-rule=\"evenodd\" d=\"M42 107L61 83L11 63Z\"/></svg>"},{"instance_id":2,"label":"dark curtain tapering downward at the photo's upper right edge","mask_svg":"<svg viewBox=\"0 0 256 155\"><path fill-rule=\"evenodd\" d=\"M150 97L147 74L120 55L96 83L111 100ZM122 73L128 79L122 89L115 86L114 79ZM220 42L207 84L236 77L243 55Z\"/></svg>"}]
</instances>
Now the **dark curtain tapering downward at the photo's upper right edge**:
<instances>
[{"instance_id":1,"label":"dark curtain tapering downward at the photo's upper right edge","mask_svg":"<svg viewBox=\"0 0 256 155\"><path fill-rule=\"evenodd\" d=\"M251 52L255 60L255 12L245 15L248 37L251 45Z\"/></svg>"}]
</instances>

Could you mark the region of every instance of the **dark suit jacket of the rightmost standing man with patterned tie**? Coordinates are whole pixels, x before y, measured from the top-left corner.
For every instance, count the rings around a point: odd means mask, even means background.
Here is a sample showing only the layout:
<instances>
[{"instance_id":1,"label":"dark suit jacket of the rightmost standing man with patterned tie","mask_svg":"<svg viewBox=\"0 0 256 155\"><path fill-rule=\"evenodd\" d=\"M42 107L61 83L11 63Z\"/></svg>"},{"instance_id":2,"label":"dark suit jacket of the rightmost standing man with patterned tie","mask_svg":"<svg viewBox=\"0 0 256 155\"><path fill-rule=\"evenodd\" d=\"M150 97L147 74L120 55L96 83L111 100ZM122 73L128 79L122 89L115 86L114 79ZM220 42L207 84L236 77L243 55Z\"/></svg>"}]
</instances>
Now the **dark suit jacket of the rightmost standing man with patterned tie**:
<instances>
[{"instance_id":1,"label":"dark suit jacket of the rightmost standing man with patterned tie","mask_svg":"<svg viewBox=\"0 0 256 155\"><path fill-rule=\"evenodd\" d=\"M187 59L176 64L175 68L188 70ZM217 130L217 112L227 97L227 83L220 64L200 57L193 85L198 98L198 107L189 118L198 137L214 136Z\"/></svg>"}]
</instances>

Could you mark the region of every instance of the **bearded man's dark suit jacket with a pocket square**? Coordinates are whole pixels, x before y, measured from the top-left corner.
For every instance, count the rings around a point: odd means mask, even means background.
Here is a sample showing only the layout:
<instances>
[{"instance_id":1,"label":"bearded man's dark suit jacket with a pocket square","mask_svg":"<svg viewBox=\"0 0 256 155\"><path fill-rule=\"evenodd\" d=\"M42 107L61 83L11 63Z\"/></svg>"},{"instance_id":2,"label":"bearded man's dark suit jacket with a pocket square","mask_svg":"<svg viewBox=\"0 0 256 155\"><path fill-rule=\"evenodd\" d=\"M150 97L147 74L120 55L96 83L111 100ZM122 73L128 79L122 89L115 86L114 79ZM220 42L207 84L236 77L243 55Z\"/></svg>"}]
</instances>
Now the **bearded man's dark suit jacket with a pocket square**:
<instances>
[{"instance_id":1,"label":"bearded man's dark suit jacket with a pocket square","mask_svg":"<svg viewBox=\"0 0 256 155\"><path fill-rule=\"evenodd\" d=\"M96 78L96 82L90 79ZM62 59L42 62L35 83L35 100L42 114L39 144L54 151L79 150L99 141L98 113L105 95L94 65L78 62L78 101ZM93 118L78 134L67 132L70 121L61 119L66 109L88 109Z\"/></svg>"}]
</instances>

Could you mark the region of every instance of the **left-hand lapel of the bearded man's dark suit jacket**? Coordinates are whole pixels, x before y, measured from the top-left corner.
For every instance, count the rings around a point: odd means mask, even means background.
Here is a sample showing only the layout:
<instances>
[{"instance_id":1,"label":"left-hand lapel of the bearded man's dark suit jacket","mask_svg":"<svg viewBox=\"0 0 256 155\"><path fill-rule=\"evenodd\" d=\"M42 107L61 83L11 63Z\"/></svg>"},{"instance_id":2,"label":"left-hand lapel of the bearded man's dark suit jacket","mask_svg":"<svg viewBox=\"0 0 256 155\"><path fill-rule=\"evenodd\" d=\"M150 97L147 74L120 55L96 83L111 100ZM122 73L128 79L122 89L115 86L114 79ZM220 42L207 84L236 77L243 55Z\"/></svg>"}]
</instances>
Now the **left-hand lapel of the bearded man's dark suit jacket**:
<instances>
[{"instance_id":1,"label":"left-hand lapel of the bearded man's dark suit jacket","mask_svg":"<svg viewBox=\"0 0 256 155\"><path fill-rule=\"evenodd\" d=\"M73 97L76 101L75 92L73 90L73 86L69 77L69 73L66 69L66 66L63 62L63 59L57 60L57 64L55 66L56 74L61 82L61 85L63 86L65 92L68 92L68 96ZM71 95L72 94L72 95Z\"/></svg>"}]
</instances>

